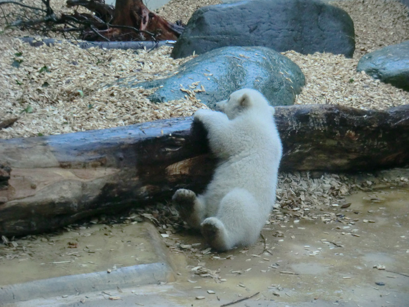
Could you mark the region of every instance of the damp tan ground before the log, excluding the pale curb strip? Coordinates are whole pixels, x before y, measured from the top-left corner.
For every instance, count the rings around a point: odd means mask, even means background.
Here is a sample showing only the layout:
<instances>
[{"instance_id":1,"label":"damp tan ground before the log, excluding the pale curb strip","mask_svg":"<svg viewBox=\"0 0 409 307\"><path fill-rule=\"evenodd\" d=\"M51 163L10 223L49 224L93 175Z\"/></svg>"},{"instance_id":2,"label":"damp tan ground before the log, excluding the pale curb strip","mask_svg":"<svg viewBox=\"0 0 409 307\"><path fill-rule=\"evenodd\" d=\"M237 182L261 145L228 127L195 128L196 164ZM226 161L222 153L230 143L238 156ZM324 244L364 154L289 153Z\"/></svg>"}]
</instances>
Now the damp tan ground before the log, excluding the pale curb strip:
<instances>
[{"instance_id":1,"label":"damp tan ground before the log, excluding the pale curb strip","mask_svg":"<svg viewBox=\"0 0 409 307\"><path fill-rule=\"evenodd\" d=\"M178 227L177 216L170 221L154 210L129 212L122 223L93 220L17 239L15 248L0 249L0 285L161 261L155 251L162 244L176 280L166 291L158 288L158 295L176 305L208 306L259 293L246 305L404 306L409 301L408 174L407 169L383 171L378 180L361 174L361 189L347 195L344 205L322 203L311 208L310 218L273 213L256 245L225 253L213 252L199 234ZM338 219L327 218L332 214ZM176 224L172 228L166 221ZM158 222L162 227L152 226ZM109 294L121 297L123 291Z\"/></svg>"}]
</instances>

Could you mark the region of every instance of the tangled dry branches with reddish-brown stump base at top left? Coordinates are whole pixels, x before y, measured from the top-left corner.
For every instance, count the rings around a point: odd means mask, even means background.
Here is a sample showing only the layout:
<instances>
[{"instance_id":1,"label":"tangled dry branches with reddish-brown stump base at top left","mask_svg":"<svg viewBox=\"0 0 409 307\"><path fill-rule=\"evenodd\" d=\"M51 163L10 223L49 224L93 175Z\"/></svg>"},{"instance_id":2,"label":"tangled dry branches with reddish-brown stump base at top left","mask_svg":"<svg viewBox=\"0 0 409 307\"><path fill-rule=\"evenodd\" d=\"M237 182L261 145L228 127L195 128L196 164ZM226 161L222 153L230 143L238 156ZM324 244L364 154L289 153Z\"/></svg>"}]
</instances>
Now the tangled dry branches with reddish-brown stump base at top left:
<instances>
[{"instance_id":1,"label":"tangled dry branches with reddish-brown stump base at top left","mask_svg":"<svg viewBox=\"0 0 409 307\"><path fill-rule=\"evenodd\" d=\"M80 32L81 39L88 41L176 40L184 30L184 27L169 23L150 11L142 0L117 0L115 8L106 5L102 0L67 0L68 7L82 6L94 14L79 13L75 10L71 15L61 14L60 17L54 14L50 0L41 2L46 6L45 10L13 1L0 2L0 5L19 5L32 10L38 16L28 20L16 20L10 26L30 27L44 34L50 31L76 31Z\"/></svg>"}]
</instances>

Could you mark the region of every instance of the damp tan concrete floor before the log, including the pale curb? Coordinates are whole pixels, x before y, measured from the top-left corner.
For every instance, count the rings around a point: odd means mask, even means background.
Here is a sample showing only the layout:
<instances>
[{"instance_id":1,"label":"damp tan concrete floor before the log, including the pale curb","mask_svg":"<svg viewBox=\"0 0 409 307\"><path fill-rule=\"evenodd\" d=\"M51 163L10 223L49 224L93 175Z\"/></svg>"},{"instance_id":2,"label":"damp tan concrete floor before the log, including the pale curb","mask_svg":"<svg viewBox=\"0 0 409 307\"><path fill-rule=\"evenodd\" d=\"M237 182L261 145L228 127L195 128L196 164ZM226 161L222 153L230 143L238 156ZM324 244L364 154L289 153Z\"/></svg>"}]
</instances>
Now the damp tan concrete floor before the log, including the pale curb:
<instances>
[{"instance_id":1,"label":"damp tan concrete floor before the log, including the pale curb","mask_svg":"<svg viewBox=\"0 0 409 307\"><path fill-rule=\"evenodd\" d=\"M409 306L409 187L347 202L333 210L353 225L290 220L266 225L255 246L200 256L171 252L147 222L39 238L31 256L0 261L0 305ZM172 236L206 250L198 234ZM211 273L195 274L198 266Z\"/></svg>"}]
</instances>

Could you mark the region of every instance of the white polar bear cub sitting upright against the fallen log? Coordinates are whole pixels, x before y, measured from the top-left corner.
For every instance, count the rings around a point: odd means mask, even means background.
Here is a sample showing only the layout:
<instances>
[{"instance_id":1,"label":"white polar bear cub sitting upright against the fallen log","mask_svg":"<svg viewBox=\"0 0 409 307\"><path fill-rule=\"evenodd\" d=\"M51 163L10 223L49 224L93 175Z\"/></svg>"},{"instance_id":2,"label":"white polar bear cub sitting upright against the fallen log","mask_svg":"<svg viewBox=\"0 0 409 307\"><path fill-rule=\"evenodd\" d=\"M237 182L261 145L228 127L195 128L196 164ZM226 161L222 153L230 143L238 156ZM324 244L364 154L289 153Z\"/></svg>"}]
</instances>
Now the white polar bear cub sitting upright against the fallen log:
<instances>
[{"instance_id":1,"label":"white polar bear cub sitting upright against the fallen log","mask_svg":"<svg viewBox=\"0 0 409 307\"><path fill-rule=\"evenodd\" d=\"M260 92L236 91L216 109L194 115L219 159L213 179L202 194L179 189L172 200L180 216L223 251L258 239L275 204L282 145L274 108Z\"/></svg>"}]
</instances>

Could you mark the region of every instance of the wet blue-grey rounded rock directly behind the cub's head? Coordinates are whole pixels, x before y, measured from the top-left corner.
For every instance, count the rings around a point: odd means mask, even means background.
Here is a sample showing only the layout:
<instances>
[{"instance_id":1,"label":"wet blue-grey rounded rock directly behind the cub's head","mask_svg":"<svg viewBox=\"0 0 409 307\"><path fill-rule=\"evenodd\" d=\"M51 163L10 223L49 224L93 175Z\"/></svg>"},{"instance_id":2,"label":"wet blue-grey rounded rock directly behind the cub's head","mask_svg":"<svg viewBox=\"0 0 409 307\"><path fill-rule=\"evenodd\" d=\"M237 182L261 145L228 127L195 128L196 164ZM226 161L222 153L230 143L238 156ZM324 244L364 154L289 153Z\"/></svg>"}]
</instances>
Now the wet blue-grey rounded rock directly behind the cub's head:
<instances>
[{"instance_id":1,"label":"wet blue-grey rounded rock directly behind the cub's head","mask_svg":"<svg viewBox=\"0 0 409 307\"><path fill-rule=\"evenodd\" d=\"M216 102L243 87L259 90L271 105L293 104L305 77L296 63L269 48L224 47L180 65L179 73L166 79L138 82L127 77L118 82L132 87L161 86L148 97L155 102L184 98L187 93L180 89L201 89L202 85L205 91L195 93L196 98L214 108Z\"/></svg>"}]
</instances>

